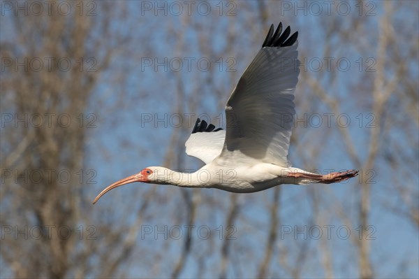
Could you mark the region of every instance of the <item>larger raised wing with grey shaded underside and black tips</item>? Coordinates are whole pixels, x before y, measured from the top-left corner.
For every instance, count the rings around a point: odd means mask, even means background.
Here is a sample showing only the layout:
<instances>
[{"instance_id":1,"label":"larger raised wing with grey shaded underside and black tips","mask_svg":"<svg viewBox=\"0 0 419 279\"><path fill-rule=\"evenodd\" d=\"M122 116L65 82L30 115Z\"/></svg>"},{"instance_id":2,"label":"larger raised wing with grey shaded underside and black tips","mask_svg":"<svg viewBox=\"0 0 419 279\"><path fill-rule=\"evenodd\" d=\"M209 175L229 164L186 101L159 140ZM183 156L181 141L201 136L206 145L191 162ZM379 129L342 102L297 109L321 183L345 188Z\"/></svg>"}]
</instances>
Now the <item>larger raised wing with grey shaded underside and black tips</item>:
<instances>
[{"instance_id":1,"label":"larger raised wing with grey shaded underside and black tips","mask_svg":"<svg viewBox=\"0 0 419 279\"><path fill-rule=\"evenodd\" d=\"M288 38L290 27L281 31L281 23L275 32L272 24L262 49L227 101L221 160L255 159L290 165L287 156L295 114L294 90L300 73L298 32Z\"/></svg>"}]
</instances>

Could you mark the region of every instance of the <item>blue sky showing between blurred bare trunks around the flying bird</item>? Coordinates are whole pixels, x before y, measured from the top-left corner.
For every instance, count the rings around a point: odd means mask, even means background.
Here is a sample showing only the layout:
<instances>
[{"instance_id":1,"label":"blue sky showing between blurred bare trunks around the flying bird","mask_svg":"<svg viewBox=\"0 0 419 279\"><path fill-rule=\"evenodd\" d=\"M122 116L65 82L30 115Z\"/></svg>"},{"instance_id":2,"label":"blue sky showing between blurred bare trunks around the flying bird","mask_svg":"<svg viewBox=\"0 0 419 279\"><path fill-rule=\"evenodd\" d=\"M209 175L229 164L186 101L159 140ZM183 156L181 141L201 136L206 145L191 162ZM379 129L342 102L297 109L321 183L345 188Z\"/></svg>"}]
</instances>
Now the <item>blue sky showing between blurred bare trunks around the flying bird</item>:
<instances>
[{"instance_id":1,"label":"blue sky showing between blurred bare trunks around the flying bird","mask_svg":"<svg viewBox=\"0 0 419 279\"><path fill-rule=\"evenodd\" d=\"M403 276L418 278L418 227L406 217L392 212L386 205L390 203L404 209L403 202L399 200L397 193L395 194L395 185L400 184L413 193L418 192L417 122L406 114L406 103L397 99L400 95L390 99L385 117L375 119L372 118L374 115L371 115L371 85L378 74L374 70L378 59L383 59L377 55L380 35L378 27L385 13L383 2L264 3L269 10L266 22L260 20L256 1L210 1L205 4L193 1L190 15L189 6L183 1L115 2L115 10L112 10L112 13L121 13L122 16L117 17L118 20L110 25L111 34L126 35L130 41L118 45L115 44L117 39L114 36L108 38L108 43L113 45L115 52L110 66L94 89L94 94L89 99L90 106L85 112L85 115L94 113L97 117L96 128L89 130L89 140L85 147L84 169L94 169L97 173L94 184L86 188L87 195L94 199L94 196L110 183L137 173L146 166L159 166L163 164L168 150L183 148L183 142L188 138L192 127L185 121L181 127L177 127L177 118L173 118L175 113L181 115L182 120L186 120L186 115L191 115L191 124L197 116L202 118L205 115L211 117L217 126L221 124L225 127L225 118L220 120L220 117L223 117L223 103L258 52L269 25L281 21L285 26L291 25L291 32L299 31L299 58L302 62L307 62L307 74L318 81L328 96L337 99L341 108L340 115L333 115L331 126L327 127L325 115L332 113L331 108L311 92L308 80L300 74L295 92L297 117L302 119L304 113L307 113L307 120L313 120L313 115L320 115L323 122L321 127L316 127L313 122L311 125L309 122L307 127L304 127L302 122L295 125L293 133L298 144L291 145L289 157L294 166L323 172L328 169L340 171L361 167L356 166L348 157L345 143L341 141L338 132L339 124L342 123L339 122L342 120L339 118L341 115L345 116L343 119L351 120L345 129L351 136L361 163L367 158L371 129L376 125L386 127L387 123L394 121L404 123L408 127L393 126L390 127L390 131L382 131L386 141L382 140L380 150L406 147L402 148L399 157L396 156L398 165L394 171L385 159L384 151L376 159L374 169L360 171L362 176L372 176L369 214L369 224L372 227L369 227L368 232L373 232L372 237L375 238L370 240L369 254L375 276L399 276L400 266L406 264L402 266L405 272ZM392 2L392 5L395 14L390 22L397 35L392 43L400 50L402 61L399 63L405 63L409 68L405 80L412 82L419 73L418 50L416 49L416 57L412 58L407 54L407 49L410 40L418 39L416 27L419 4L414 1L398 1ZM206 14L205 8L208 7L211 12ZM181 8L182 13L178 8ZM101 16L101 6L98 3L97 15L92 17L92 20ZM8 22L3 18L2 36L13 36L12 29L4 28L4 24ZM232 27L235 34L240 35L233 36L233 42L228 41ZM328 31L333 29L332 27L341 30L339 34L348 32L348 36L344 38L332 34L328 37ZM403 27L403 32L399 31ZM94 36L101 38L103 34L94 32ZM204 43L200 44L200 40L204 40ZM203 45L207 45L210 51L203 48ZM230 52L226 52L229 49ZM332 57L330 71L325 70L325 50L328 50L328 57ZM101 62L103 53L95 52L94 45L91 45L91 51L88 56ZM389 47L386 53L390 55L392 51ZM182 67L177 71L179 68L176 63L179 61L182 62ZM190 70L187 68L189 61ZM212 67L208 71L203 70L198 61L204 64L209 61ZM320 71L316 70L318 61L322 63ZM344 64L337 64L339 61L343 61ZM152 62L152 65L145 64L149 62ZM346 66L342 66L346 62L349 62L348 71ZM160 66L156 66L155 63L159 63ZM387 65L386 78L392 78L396 66ZM233 72L227 71L228 69L232 69ZM367 71L368 69L373 71ZM182 101L179 101L179 80L182 81ZM413 84L418 87L417 81ZM390 106L394 103L398 105ZM147 117L152 117L152 120L145 121L149 120ZM156 118L160 121L155 122ZM370 120L374 127L368 126ZM171 146L175 131L181 132L176 145ZM318 155L314 155L313 150L317 151ZM403 156L416 157L413 166L403 167ZM198 169L202 166L197 159L187 157L186 154L183 154L179 161L182 165L176 167L181 169ZM402 173L401 169L409 174L409 179L406 179L406 174ZM145 196L154 187L156 193L150 200L146 200ZM240 213L235 220L233 231L230 231L226 224L230 194L216 189L200 189L196 192L191 189L136 183L106 194L96 206L89 208L91 211L86 214L94 215L103 210L109 214L108 219L113 220L112 224L127 226L134 222L138 208L149 201L152 205L144 213L144 222L141 225L143 227L138 228L139 234L133 255L121 269L132 277L170 276L172 262L176 262L181 255L184 236L177 240L173 237L164 239L161 235L150 238L147 235L142 239L141 232L146 227L161 229L167 226L173 230L177 227L183 228L184 233L188 217L184 191L198 200L198 207L191 254L180 273L182 278L219 276L218 269L222 261L220 250L223 245L223 241L219 239L221 231L223 238L230 232L235 237L230 242L232 254L227 276L234 278L257 274L270 227L270 205L274 189L239 196L237 202L240 205ZM281 188L280 207L277 212L278 238L274 243L274 254L270 262L270 276L291 276L289 271L282 269L284 262L280 262L286 248L288 264L297 266L302 277L323 278L325 271L321 264L325 250L321 241L325 241L332 255L335 277L358 277L358 250L351 238L344 239L344 233L347 231L351 236L359 234L359 195L358 179L339 185L284 185ZM318 213L314 212L314 201L319 203ZM418 201L417 196L413 197L414 201ZM348 216L351 224L341 220L337 213L339 208ZM332 226L330 239L325 240L328 229L324 226ZM212 236L203 239L197 230L207 228L211 229ZM307 229L308 238L302 239L302 234L295 237L293 233L297 228ZM322 233L319 240L315 239L318 228ZM341 230L338 231L338 228ZM292 230L290 234L286 233L288 229ZM109 232L98 231L98 236L107 233ZM304 252L307 260L304 265L298 266L298 257L301 257L299 251L302 247L307 249ZM165 251L163 258L159 251ZM205 258L204 266L198 265L200 257ZM201 271L203 273L200 273Z\"/></svg>"}]
</instances>

